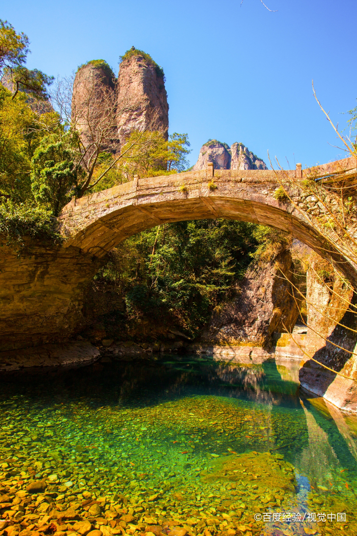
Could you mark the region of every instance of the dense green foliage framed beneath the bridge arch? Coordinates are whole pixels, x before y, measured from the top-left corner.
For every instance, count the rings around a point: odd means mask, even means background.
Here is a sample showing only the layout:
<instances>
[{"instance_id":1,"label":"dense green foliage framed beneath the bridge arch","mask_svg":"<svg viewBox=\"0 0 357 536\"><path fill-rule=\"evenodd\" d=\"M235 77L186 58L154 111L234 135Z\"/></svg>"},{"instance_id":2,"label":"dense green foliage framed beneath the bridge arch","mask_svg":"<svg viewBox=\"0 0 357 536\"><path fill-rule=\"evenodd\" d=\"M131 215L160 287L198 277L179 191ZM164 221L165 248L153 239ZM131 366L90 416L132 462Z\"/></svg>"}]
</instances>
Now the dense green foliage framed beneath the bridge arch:
<instances>
[{"instance_id":1,"label":"dense green foliage framed beneath the bridge arch","mask_svg":"<svg viewBox=\"0 0 357 536\"><path fill-rule=\"evenodd\" d=\"M146 319L195 335L244 276L258 245L255 228L194 220L149 229L120 244L97 278L120 287L130 329Z\"/></svg>"}]
</instances>

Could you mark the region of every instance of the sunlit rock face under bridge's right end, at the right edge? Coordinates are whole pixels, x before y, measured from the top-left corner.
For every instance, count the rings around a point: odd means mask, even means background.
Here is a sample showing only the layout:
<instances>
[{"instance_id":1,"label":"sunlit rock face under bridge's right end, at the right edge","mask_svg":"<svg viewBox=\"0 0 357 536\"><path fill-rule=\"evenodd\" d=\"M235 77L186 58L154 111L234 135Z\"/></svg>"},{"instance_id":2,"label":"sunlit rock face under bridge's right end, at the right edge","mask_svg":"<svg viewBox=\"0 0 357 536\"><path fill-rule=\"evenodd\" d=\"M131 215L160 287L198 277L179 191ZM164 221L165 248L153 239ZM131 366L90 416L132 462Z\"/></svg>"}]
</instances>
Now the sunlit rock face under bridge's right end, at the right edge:
<instances>
[{"instance_id":1,"label":"sunlit rock face under bridge's right end, at the right edge","mask_svg":"<svg viewBox=\"0 0 357 536\"><path fill-rule=\"evenodd\" d=\"M324 262L318 255L312 255L310 264L315 272L319 273L321 268L326 269L322 263ZM300 383L303 388L324 397L337 407L357 411L356 297L339 277L333 277L333 273L327 282L332 289L329 290L315 272L312 269L307 272L309 328L306 338L307 355L304 356L299 373ZM353 305L348 309L349 300ZM341 325L337 325L337 322ZM309 357L355 381L334 374Z\"/></svg>"}]
</instances>

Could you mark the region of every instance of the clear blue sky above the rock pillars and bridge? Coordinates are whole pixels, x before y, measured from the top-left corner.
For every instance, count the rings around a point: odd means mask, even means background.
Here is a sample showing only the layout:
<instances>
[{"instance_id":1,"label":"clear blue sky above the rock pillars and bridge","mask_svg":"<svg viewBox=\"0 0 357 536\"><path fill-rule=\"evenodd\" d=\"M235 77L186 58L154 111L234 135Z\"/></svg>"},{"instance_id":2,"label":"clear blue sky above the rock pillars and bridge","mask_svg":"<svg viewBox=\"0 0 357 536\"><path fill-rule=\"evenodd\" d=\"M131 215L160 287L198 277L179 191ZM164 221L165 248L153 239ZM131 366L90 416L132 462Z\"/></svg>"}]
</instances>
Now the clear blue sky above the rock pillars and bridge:
<instances>
[{"instance_id":1,"label":"clear blue sky above the rock pillars and bridge","mask_svg":"<svg viewBox=\"0 0 357 536\"><path fill-rule=\"evenodd\" d=\"M312 93L345 128L355 106L355 0L12 0L1 18L31 41L28 66L69 75L90 59L117 72L145 50L166 75L170 132L187 132L191 163L209 138L243 142L284 167L344 158Z\"/></svg>"}]
</instances>

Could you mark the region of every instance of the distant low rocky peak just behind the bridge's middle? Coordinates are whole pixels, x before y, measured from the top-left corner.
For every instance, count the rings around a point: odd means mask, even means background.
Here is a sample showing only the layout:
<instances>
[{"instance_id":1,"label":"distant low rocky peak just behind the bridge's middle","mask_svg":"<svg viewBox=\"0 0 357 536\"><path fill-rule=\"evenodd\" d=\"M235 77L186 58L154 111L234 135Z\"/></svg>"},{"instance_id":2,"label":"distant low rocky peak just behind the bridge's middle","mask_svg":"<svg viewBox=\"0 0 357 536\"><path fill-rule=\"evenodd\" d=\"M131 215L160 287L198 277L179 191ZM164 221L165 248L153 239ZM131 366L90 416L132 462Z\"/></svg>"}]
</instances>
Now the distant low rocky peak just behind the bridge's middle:
<instances>
[{"instance_id":1,"label":"distant low rocky peak just behind the bridge's middle","mask_svg":"<svg viewBox=\"0 0 357 536\"><path fill-rule=\"evenodd\" d=\"M236 142L229 147L216 139L202 145L193 171L206 169L208 162L213 162L215 169L268 169L263 160L257 158L242 143Z\"/></svg>"}]
</instances>

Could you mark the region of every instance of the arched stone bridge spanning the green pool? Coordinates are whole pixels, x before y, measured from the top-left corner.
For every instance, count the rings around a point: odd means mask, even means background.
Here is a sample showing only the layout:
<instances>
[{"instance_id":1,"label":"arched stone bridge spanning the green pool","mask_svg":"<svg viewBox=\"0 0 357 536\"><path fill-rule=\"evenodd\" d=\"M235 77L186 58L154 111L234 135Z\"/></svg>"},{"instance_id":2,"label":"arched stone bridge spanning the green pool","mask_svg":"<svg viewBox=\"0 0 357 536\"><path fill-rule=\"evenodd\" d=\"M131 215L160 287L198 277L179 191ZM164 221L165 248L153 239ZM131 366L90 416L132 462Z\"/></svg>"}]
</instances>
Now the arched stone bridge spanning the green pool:
<instances>
[{"instance_id":1,"label":"arched stone bridge spanning the green pool","mask_svg":"<svg viewBox=\"0 0 357 536\"><path fill-rule=\"evenodd\" d=\"M314 176L355 177L354 159L338 160L309 170ZM297 165L294 171L278 172L284 180L301 178L307 170ZM309 245L344 273L357 286L357 270L337 250L331 251L316 228L307 224L290 202L275 199L279 187L276 174L268 170L206 170L134 178L80 199L73 198L58 220L63 235L69 236L65 247L73 245L83 252L103 257L119 242L143 229L166 222L226 218L269 225L291 233ZM305 203L296 184L290 190L294 202ZM309 203L310 210L318 211ZM324 252L325 250L330 253Z\"/></svg>"}]
</instances>

